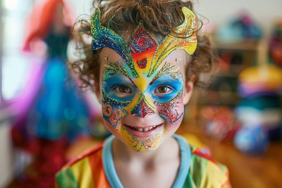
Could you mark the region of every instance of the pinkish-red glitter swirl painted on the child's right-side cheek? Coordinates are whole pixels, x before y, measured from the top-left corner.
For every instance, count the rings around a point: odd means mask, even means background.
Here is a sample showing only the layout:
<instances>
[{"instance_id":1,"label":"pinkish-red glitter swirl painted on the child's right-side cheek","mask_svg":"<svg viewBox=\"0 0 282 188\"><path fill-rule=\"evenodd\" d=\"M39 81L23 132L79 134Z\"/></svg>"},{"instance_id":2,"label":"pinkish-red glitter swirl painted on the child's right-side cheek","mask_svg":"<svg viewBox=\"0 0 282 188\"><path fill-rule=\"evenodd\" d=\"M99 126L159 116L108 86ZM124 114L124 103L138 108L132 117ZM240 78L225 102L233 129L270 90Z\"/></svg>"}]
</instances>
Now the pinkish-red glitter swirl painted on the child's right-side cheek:
<instances>
[{"instance_id":1,"label":"pinkish-red glitter swirl painted on the child's right-side cheek","mask_svg":"<svg viewBox=\"0 0 282 188\"><path fill-rule=\"evenodd\" d=\"M183 115L183 109L182 109L183 102L182 102L181 93L182 90L178 92L175 98L167 102L164 103L160 103L158 101L154 102L154 104L157 106L159 115L168 118L170 124L175 123Z\"/></svg>"}]
</instances>

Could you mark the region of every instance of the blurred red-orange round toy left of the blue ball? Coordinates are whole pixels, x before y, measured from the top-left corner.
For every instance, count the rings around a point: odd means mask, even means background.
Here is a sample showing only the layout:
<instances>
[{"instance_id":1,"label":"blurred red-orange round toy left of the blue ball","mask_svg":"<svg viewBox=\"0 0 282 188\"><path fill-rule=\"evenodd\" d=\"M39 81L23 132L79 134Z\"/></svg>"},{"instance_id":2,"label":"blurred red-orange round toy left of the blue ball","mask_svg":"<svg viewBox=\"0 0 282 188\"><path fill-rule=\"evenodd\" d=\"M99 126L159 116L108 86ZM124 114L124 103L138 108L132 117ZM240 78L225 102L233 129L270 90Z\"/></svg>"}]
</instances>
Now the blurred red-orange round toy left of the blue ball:
<instances>
[{"instance_id":1,"label":"blurred red-orange round toy left of the blue ball","mask_svg":"<svg viewBox=\"0 0 282 188\"><path fill-rule=\"evenodd\" d=\"M202 111L202 118L206 121L206 134L219 141L232 142L241 126L228 107L206 107Z\"/></svg>"}]
</instances>

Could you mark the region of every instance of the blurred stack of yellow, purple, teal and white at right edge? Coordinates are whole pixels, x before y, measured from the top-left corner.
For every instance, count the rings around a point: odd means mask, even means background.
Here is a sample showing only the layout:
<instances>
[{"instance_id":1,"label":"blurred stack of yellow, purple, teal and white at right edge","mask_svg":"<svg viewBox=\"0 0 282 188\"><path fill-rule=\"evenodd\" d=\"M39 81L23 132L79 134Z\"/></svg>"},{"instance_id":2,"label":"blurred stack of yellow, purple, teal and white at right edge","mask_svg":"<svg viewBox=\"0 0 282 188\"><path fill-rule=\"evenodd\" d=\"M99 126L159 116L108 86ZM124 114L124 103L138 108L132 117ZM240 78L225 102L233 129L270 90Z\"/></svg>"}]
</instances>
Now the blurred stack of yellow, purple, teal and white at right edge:
<instances>
[{"instance_id":1,"label":"blurred stack of yellow, purple, teal and white at right edge","mask_svg":"<svg viewBox=\"0 0 282 188\"><path fill-rule=\"evenodd\" d=\"M243 125L264 127L270 140L281 137L282 70L274 65L244 69L239 75L238 93L243 98L235 112Z\"/></svg>"}]
</instances>

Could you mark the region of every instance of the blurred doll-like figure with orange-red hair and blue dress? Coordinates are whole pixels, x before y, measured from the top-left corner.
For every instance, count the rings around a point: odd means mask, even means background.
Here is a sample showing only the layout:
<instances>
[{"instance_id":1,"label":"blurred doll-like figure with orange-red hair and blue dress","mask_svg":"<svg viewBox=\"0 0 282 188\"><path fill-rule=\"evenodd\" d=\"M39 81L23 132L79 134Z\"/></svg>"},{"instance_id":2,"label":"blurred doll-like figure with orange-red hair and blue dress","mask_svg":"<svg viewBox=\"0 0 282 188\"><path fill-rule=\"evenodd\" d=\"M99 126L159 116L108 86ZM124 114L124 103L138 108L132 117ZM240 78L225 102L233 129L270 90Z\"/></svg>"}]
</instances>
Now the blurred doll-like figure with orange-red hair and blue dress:
<instances>
[{"instance_id":1,"label":"blurred doll-like figure with orange-red hair and blue dress","mask_svg":"<svg viewBox=\"0 0 282 188\"><path fill-rule=\"evenodd\" d=\"M66 162L67 144L89 124L84 100L76 97L76 86L66 82L72 24L66 13L62 0L48 0L40 11L34 8L24 45L25 51L33 52L38 51L39 40L47 46L45 63L32 70L31 85L24 92L25 102L19 103L21 111L12 129L14 144L35 155L38 177L32 179L33 186L54 184L54 173Z\"/></svg>"}]
</instances>

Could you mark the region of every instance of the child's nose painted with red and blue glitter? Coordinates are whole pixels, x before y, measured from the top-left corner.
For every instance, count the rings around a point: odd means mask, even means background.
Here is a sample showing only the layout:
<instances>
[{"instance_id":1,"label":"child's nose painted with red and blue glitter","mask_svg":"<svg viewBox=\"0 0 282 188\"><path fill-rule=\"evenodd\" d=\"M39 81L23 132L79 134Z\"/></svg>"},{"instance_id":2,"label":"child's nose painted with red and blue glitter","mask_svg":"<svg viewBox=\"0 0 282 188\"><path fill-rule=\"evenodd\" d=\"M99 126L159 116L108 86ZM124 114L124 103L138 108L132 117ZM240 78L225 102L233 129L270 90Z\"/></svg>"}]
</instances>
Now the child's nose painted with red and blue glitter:
<instances>
[{"instance_id":1,"label":"child's nose painted with red and blue glitter","mask_svg":"<svg viewBox=\"0 0 282 188\"><path fill-rule=\"evenodd\" d=\"M142 93L139 97L139 99L137 100L136 104L133 106L133 108L131 109L130 113L131 115L137 115L140 118L144 118L146 117L148 114L154 114L155 111L153 110L154 107L153 105L151 105L145 95Z\"/></svg>"}]
</instances>

